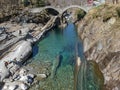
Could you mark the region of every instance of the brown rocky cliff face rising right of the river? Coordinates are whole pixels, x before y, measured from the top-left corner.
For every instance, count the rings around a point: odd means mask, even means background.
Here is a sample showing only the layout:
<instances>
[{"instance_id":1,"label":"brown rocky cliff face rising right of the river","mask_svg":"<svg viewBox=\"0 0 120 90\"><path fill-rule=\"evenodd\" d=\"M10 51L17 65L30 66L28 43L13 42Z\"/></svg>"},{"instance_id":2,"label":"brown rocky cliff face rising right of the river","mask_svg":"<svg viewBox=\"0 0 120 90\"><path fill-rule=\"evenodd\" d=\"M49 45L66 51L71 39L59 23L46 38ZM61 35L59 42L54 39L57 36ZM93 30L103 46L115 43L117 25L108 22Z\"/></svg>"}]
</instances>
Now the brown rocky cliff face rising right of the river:
<instances>
[{"instance_id":1,"label":"brown rocky cliff face rising right of the river","mask_svg":"<svg viewBox=\"0 0 120 90\"><path fill-rule=\"evenodd\" d=\"M120 5L102 5L78 24L87 60L98 63L104 90L120 90Z\"/></svg>"}]
</instances>

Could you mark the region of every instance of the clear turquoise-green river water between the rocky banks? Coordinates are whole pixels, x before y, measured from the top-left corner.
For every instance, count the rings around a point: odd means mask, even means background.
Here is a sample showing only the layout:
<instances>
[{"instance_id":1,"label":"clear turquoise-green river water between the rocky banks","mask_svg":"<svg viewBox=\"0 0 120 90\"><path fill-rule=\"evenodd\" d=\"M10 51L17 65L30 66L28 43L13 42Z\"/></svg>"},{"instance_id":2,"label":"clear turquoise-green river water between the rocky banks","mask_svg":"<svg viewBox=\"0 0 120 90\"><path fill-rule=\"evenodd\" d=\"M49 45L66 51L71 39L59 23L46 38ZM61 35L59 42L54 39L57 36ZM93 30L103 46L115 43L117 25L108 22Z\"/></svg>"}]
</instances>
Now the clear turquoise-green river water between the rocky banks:
<instances>
[{"instance_id":1,"label":"clear turquoise-green river water between the rocky banks","mask_svg":"<svg viewBox=\"0 0 120 90\"><path fill-rule=\"evenodd\" d=\"M38 68L38 71L42 71L40 67L42 62L44 64L48 62L52 64L47 67L50 73L49 77L39 82L39 87L34 90L73 90L75 51L78 41L78 56L82 58L82 65L78 72L76 90L100 90L101 73L98 69L95 69L98 66L85 60L82 44L78 40L77 30L74 24L68 24L63 30L53 29L33 47L31 64L34 64ZM60 60L58 60L59 56ZM92 68L91 70L90 67ZM96 73L100 74L96 76ZM96 80L98 81L96 82Z\"/></svg>"}]
</instances>

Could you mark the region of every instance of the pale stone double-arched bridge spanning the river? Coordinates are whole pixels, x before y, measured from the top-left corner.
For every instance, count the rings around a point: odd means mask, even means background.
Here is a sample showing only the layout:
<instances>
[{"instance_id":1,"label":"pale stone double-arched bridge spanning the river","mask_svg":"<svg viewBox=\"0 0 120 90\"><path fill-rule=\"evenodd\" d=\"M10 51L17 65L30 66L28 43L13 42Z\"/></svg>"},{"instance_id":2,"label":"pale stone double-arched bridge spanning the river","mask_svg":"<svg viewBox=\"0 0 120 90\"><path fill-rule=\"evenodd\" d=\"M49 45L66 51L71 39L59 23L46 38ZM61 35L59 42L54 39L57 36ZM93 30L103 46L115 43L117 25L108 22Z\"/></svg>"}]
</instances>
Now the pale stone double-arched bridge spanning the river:
<instances>
[{"instance_id":1,"label":"pale stone double-arched bridge spanning the river","mask_svg":"<svg viewBox=\"0 0 120 90\"><path fill-rule=\"evenodd\" d=\"M79 8L87 13L92 7L91 6L79 6L79 5L70 5L70 6L67 6L64 8L59 8L59 7L54 7L54 6L45 6L45 7L40 7L40 8L32 8L29 10L29 12L40 13L46 9L53 9L53 10L57 11L59 14L63 14L66 10L68 10L70 8Z\"/></svg>"}]
</instances>

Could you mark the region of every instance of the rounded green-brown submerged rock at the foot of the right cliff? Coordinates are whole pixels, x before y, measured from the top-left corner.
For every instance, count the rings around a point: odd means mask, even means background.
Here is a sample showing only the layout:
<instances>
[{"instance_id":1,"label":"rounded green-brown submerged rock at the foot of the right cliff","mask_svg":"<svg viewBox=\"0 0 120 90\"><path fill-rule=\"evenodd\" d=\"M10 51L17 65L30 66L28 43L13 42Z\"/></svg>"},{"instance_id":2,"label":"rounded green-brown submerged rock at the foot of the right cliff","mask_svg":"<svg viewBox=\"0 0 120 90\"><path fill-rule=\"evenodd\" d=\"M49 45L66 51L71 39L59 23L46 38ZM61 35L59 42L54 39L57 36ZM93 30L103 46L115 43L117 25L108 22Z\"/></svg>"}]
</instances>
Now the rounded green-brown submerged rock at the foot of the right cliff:
<instances>
[{"instance_id":1,"label":"rounded green-brown submerged rock at the foot of the right cliff","mask_svg":"<svg viewBox=\"0 0 120 90\"><path fill-rule=\"evenodd\" d=\"M104 78L94 61L82 62L77 75L75 90L103 90Z\"/></svg>"}]
</instances>

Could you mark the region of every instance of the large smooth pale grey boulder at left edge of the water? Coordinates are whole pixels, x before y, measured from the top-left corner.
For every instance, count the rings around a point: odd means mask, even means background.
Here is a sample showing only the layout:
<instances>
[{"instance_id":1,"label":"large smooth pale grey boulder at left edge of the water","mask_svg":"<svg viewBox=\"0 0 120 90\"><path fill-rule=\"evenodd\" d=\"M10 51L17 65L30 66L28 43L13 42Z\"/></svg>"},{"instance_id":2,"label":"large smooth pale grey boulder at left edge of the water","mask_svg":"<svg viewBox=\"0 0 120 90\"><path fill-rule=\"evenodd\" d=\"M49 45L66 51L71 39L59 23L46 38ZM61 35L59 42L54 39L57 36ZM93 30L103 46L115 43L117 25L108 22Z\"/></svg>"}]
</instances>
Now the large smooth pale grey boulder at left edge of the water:
<instances>
[{"instance_id":1,"label":"large smooth pale grey boulder at left edge of the water","mask_svg":"<svg viewBox=\"0 0 120 90\"><path fill-rule=\"evenodd\" d=\"M15 48L1 59L1 62L3 61L23 62L30 56L31 53L32 53L31 43L23 40L23 41L18 42L17 45L15 45Z\"/></svg>"}]
</instances>

